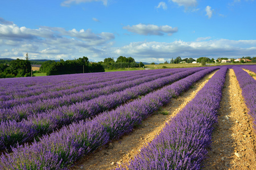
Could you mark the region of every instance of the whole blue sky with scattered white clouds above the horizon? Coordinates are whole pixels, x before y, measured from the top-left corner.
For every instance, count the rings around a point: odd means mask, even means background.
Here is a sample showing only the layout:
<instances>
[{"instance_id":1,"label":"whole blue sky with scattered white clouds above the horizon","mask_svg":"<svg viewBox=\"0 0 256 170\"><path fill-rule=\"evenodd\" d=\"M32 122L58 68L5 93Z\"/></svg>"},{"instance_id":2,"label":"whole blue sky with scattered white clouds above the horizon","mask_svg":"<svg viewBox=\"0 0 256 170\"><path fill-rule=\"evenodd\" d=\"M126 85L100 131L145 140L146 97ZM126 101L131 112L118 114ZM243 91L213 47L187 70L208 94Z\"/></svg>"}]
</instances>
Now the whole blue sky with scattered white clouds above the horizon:
<instances>
[{"instance_id":1,"label":"whole blue sky with scattered white clouds above the horizon","mask_svg":"<svg viewBox=\"0 0 256 170\"><path fill-rule=\"evenodd\" d=\"M253 0L0 2L0 58L256 56Z\"/></svg>"}]
</instances>

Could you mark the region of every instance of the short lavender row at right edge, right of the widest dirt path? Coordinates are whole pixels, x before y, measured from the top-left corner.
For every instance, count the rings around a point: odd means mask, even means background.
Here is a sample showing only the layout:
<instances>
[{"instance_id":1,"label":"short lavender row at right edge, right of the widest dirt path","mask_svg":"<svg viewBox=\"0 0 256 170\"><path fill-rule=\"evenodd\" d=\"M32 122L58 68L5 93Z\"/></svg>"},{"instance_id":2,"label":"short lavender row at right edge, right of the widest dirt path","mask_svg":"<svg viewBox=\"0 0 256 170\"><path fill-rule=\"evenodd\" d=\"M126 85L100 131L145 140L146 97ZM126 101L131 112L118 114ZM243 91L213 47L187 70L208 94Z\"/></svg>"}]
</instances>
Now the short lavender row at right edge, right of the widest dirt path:
<instances>
[{"instance_id":1,"label":"short lavender row at right edge, right of the widest dirt path","mask_svg":"<svg viewBox=\"0 0 256 170\"><path fill-rule=\"evenodd\" d=\"M249 108L249 114L254 119L254 129L256 129L256 80L246 73L246 71L243 71L241 67L233 67L232 69L236 74L238 83L242 89L245 104L247 108ZM247 69L249 70L250 68ZM251 71L253 71L253 69Z\"/></svg>"}]
</instances>

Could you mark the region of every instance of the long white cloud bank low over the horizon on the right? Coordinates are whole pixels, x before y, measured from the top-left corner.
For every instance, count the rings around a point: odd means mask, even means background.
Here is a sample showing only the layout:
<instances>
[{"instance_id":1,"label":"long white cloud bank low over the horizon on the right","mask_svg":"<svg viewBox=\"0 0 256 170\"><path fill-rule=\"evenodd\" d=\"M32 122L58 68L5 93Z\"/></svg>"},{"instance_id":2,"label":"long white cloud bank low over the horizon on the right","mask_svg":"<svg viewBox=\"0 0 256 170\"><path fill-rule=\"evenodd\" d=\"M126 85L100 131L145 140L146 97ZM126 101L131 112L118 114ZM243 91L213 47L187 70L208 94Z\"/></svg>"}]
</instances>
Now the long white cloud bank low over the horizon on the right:
<instances>
[{"instance_id":1,"label":"long white cloud bank low over the horizon on the right","mask_svg":"<svg viewBox=\"0 0 256 170\"><path fill-rule=\"evenodd\" d=\"M115 56L135 56L136 61L152 62L152 58L164 61L176 58L241 57L255 56L256 40L209 40L202 42L131 42L121 48L113 48ZM137 57L137 58L136 58ZM162 61L162 60L161 60ZM156 61L154 61L156 62ZM160 62L160 61L159 61Z\"/></svg>"}]
</instances>

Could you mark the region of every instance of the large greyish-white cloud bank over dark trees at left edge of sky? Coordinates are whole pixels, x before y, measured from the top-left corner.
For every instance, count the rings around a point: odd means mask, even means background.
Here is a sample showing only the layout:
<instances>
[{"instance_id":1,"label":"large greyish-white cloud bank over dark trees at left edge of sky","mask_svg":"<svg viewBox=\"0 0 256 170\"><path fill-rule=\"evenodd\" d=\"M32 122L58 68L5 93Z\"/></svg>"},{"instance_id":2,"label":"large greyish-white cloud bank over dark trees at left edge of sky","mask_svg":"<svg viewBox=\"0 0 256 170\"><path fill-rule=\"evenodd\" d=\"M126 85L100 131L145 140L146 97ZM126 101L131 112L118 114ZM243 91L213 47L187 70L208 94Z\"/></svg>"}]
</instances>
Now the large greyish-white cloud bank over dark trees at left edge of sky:
<instances>
[{"instance_id":1,"label":"large greyish-white cloud bank over dark trees at left edge of sky","mask_svg":"<svg viewBox=\"0 0 256 170\"><path fill-rule=\"evenodd\" d=\"M3 23L3 22L2 22ZM114 34L94 33L90 29L65 30L59 27L30 29L5 21L0 24L0 57L18 57L29 52L31 59L52 58L56 55L80 57L85 54L97 56L109 46ZM86 50L81 50L86 49ZM6 51L7 50L7 51ZM80 51L86 51L81 54ZM69 59L69 58L65 58Z\"/></svg>"}]
</instances>

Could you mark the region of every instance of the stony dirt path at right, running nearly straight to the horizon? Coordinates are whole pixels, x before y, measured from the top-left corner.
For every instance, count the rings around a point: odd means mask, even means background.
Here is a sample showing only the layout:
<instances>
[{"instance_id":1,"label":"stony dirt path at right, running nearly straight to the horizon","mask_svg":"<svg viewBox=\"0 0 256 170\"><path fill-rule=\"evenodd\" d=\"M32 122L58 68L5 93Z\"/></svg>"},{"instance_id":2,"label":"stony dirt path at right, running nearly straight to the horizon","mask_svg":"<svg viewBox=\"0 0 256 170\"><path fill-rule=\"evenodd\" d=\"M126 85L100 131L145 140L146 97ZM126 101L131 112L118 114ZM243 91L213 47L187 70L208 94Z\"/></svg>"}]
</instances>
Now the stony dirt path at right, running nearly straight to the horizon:
<instances>
[{"instance_id":1,"label":"stony dirt path at right, running nearly straight to the horizon","mask_svg":"<svg viewBox=\"0 0 256 170\"><path fill-rule=\"evenodd\" d=\"M253 120L233 69L228 70L224 87L212 150L208 150L203 169L256 169Z\"/></svg>"}]
</instances>

